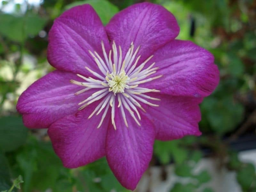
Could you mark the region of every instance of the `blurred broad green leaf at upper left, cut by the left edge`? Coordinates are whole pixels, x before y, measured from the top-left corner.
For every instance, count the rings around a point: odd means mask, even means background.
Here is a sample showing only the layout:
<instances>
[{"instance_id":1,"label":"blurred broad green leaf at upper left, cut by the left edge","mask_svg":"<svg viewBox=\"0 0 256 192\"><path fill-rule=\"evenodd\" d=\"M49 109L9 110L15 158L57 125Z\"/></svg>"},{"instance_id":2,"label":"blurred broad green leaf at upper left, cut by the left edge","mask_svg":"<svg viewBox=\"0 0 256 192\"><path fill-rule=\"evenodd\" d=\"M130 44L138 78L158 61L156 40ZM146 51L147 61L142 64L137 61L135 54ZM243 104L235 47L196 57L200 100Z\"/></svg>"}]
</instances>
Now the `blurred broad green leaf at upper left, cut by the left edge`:
<instances>
[{"instance_id":1,"label":"blurred broad green leaf at upper left, cut by the left edge","mask_svg":"<svg viewBox=\"0 0 256 192\"><path fill-rule=\"evenodd\" d=\"M12 41L23 42L28 36L35 36L43 29L46 19L28 13L26 16L0 14L0 34Z\"/></svg>"}]
</instances>

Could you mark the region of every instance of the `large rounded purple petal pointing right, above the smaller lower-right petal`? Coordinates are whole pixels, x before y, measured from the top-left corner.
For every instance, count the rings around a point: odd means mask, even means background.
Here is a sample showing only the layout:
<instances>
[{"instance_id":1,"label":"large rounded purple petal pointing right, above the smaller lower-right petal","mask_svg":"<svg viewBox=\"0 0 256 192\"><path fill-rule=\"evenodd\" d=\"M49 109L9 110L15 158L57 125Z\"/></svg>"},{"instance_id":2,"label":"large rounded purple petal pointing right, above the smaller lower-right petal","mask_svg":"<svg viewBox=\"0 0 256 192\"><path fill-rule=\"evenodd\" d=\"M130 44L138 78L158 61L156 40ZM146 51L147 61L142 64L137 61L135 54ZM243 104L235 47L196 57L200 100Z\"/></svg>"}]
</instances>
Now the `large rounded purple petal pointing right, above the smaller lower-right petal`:
<instances>
[{"instance_id":1,"label":"large rounded purple petal pointing right, above the smaller lower-right petal","mask_svg":"<svg viewBox=\"0 0 256 192\"><path fill-rule=\"evenodd\" d=\"M154 67L159 67L154 75L163 77L143 86L160 90L160 93L206 97L219 83L213 55L189 41L174 40L166 44L154 53L148 65L152 62L156 62Z\"/></svg>"}]
</instances>

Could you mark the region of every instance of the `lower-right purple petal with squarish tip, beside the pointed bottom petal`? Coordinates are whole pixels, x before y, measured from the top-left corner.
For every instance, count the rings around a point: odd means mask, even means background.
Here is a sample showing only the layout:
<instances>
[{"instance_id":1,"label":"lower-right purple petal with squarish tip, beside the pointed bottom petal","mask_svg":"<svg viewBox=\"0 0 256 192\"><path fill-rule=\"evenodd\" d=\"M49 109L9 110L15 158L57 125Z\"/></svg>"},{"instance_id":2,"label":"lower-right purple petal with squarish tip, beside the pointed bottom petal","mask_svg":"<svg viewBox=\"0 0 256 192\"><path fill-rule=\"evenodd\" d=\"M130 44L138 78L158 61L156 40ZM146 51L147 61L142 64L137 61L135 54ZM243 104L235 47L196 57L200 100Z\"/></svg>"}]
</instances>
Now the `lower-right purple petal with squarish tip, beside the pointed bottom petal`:
<instances>
[{"instance_id":1,"label":"lower-right purple petal with squarish tip, beside the pointed bottom petal","mask_svg":"<svg viewBox=\"0 0 256 192\"><path fill-rule=\"evenodd\" d=\"M146 115L156 127L156 139L173 140L186 135L201 135L198 122L201 120L201 98L176 97L165 94L148 94L159 98L154 101L159 107L145 105Z\"/></svg>"}]
</instances>

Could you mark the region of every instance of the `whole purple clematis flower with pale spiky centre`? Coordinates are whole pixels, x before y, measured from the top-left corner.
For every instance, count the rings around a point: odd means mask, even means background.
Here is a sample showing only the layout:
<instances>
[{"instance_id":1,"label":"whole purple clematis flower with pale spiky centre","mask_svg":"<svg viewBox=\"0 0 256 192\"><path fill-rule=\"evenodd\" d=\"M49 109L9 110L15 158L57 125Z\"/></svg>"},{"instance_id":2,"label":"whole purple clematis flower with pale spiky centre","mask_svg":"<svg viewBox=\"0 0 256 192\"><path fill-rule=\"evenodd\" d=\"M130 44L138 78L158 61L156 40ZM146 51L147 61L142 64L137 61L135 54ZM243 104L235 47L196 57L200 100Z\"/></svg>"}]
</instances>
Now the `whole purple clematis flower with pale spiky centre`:
<instances>
[{"instance_id":1,"label":"whole purple clematis flower with pale spiky centre","mask_svg":"<svg viewBox=\"0 0 256 192\"><path fill-rule=\"evenodd\" d=\"M57 70L18 100L24 124L48 128L65 167L106 156L133 190L155 139L201 134L198 104L219 82L212 54L178 34L172 13L156 4L132 5L106 27L88 4L64 12L49 33Z\"/></svg>"}]
</instances>

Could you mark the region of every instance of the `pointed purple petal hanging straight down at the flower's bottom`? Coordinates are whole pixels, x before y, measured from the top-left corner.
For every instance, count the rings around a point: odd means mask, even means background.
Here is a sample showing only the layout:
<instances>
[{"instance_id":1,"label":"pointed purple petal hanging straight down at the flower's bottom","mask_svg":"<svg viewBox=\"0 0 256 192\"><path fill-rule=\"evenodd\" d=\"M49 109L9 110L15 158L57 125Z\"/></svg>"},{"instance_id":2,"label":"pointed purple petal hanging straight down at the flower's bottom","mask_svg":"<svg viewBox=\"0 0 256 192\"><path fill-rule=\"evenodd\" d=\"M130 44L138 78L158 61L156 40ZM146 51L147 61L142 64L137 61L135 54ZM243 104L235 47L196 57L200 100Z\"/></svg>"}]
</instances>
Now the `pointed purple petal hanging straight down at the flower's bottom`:
<instances>
[{"instance_id":1,"label":"pointed purple petal hanging straight down at the flower's bottom","mask_svg":"<svg viewBox=\"0 0 256 192\"><path fill-rule=\"evenodd\" d=\"M118 110L118 109L117 109ZM106 157L117 180L127 189L134 190L148 168L152 157L155 130L149 119L141 116L141 126L126 113L128 128L116 112L116 130L110 123L106 140Z\"/></svg>"}]
</instances>

